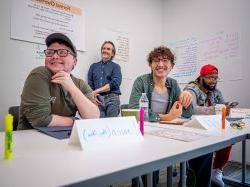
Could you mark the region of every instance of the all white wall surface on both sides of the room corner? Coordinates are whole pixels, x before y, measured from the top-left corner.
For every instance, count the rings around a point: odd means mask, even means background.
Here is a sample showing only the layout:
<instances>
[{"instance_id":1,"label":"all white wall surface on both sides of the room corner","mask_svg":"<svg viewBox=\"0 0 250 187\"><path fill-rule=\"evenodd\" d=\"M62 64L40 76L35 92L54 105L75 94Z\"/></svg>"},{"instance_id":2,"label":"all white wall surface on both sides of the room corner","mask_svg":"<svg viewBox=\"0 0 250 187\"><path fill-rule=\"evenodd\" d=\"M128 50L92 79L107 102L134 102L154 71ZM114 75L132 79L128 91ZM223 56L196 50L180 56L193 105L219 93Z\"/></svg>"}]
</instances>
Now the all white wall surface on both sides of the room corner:
<instances>
[{"instance_id":1,"label":"all white wall surface on both sides of the room corner","mask_svg":"<svg viewBox=\"0 0 250 187\"><path fill-rule=\"evenodd\" d=\"M129 33L129 63L122 66L123 79L121 86L122 103L127 103L132 83L140 74L148 72L146 63L148 52L169 40L181 39L187 35L199 35L231 28L239 31L241 36L241 62L243 80L226 81L219 84L228 101L239 101L240 107L250 108L250 17L249 0L73 0L68 1L81 6L86 11L86 49L79 53L79 63L74 74L86 79L91 63L100 56L98 37L104 29L113 28ZM42 65L34 61L36 44L10 40L10 1L0 2L0 130L3 129L3 116L11 105L19 105L23 83L30 70ZM237 64L236 64L237 65ZM233 67L232 67L233 68ZM250 158L248 142L247 158ZM235 154L233 159L239 160Z\"/></svg>"}]
</instances>

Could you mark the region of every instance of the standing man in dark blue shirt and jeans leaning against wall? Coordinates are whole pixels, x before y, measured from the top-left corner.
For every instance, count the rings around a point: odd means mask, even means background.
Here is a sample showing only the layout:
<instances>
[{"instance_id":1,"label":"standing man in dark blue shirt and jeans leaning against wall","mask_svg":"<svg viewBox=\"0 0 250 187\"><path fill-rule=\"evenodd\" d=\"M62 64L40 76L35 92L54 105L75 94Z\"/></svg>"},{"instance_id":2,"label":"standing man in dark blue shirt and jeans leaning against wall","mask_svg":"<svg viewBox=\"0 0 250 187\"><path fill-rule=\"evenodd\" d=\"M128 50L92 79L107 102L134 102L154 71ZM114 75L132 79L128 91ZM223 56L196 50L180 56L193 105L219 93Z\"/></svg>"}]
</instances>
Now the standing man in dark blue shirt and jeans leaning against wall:
<instances>
[{"instance_id":1,"label":"standing man in dark blue shirt and jeans leaning against wall","mask_svg":"<svg viewBox=\"0 0 250 187\"><path fill-rule=\"evenodd\" d=\"M120 113L121 68L112 59L116 53L115 45L105 41L101 47L100 62L90 66L88 84L94 90L101 117L116 117Z\"/></svg>"}]
</instances>

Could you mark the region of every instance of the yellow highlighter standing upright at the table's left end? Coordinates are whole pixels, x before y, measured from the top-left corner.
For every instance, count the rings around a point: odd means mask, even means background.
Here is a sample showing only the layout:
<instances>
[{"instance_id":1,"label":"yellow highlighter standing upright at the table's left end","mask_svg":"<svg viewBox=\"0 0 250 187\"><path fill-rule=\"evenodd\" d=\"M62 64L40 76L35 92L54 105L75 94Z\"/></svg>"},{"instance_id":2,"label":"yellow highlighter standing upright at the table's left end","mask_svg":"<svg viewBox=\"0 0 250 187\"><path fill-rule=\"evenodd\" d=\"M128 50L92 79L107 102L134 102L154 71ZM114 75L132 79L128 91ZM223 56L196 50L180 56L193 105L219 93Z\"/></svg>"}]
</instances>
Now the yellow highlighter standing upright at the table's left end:
<instances>
[{"instance_id":1,"label":"yellow highlighter standing upright at the table's left end","mask_svg":"<svg viewBox=\"0 0 250 187\"><path fill-rule=\"evenodd\" d=\"M7 114L5 116L5 147L4 147L4 159L12 159L12 132L13 132L13 116Z\"/></svg>"}]
</instances>

